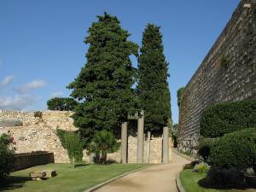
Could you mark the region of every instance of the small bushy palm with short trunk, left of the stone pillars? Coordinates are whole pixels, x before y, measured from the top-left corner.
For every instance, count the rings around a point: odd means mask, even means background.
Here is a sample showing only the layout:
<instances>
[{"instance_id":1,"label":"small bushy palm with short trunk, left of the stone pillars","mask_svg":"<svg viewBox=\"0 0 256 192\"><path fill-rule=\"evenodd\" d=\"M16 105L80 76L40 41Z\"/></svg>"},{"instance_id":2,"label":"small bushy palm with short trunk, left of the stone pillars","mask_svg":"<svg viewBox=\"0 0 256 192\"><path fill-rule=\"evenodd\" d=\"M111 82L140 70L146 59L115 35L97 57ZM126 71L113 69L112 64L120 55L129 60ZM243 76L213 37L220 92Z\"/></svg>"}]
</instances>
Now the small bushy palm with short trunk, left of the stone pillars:
<instances>
[{"instance_id":1,"label":"small bushy palm with short trunk, left of the stone pillars","mask_svg":"<svg viewBox=\"0 0 256 192\"><path fill-rule=\"evenodd\" d=\"M113 153L119 149L119 143L117 143L113 133L111 131L102 130L96 131L92 142L90 143L89 153L95 153L98 163L106 163L107 154Z\"/></svg>"}]
</instances>

